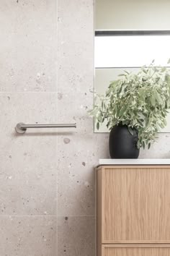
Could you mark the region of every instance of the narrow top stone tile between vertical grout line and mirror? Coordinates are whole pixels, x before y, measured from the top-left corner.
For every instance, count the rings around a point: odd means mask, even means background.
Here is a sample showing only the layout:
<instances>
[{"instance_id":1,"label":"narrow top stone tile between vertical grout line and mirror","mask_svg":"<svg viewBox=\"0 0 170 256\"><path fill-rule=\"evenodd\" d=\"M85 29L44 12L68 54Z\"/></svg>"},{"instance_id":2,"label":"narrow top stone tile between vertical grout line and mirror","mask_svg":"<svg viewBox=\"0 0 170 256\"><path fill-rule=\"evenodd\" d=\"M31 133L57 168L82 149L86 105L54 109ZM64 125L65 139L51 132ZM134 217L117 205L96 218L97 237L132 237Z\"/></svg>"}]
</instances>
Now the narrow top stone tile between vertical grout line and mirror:
<instances>
[{"instance_id":1,"label":"narrow top stone tile between vertical grout line and mirror","mask_svg":"<svg viewBox=\"0 0 170 256\"><path fill-rule=\"evenodd\" d=\"M93 24L94 1L58 0L58 89L76 98L94 88Z\"/></svg>"}]
</instances>

